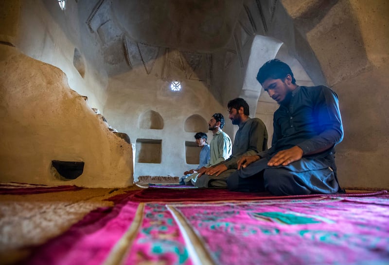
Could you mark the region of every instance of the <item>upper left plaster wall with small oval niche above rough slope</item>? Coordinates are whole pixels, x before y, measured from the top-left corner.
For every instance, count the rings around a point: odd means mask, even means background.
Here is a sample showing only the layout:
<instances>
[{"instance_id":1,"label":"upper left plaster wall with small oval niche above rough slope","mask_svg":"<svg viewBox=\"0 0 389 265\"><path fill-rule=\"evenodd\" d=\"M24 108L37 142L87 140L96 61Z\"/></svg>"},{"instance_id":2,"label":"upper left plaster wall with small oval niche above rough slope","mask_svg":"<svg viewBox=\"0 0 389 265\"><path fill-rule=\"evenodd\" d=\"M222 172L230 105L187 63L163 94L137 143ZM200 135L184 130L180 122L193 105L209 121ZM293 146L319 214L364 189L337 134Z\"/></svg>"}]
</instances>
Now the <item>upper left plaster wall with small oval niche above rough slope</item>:
<instances>
[{"instance_id":1,"label":"upper left plaster wall with small oval niche above rough slope","mask_svg":"<svg viewBox=\"0 0 389 265\"><path fill-rule=\"evenodd\" d=\"M6 6L13 6L13 1L4 2ZM24 0L20 4L19 16L6 23L18 25L12 44L21 53L61 69L67 75L71 89L88 96L91 108L103 110L107 74L100 55L99 39L88 32L85 25L87 8L78 4L86 3L67 1L66 12L63 12L57 1ZM73 65L75 48L85 57L84 78Z\"/></svg>"}]
</instances>

